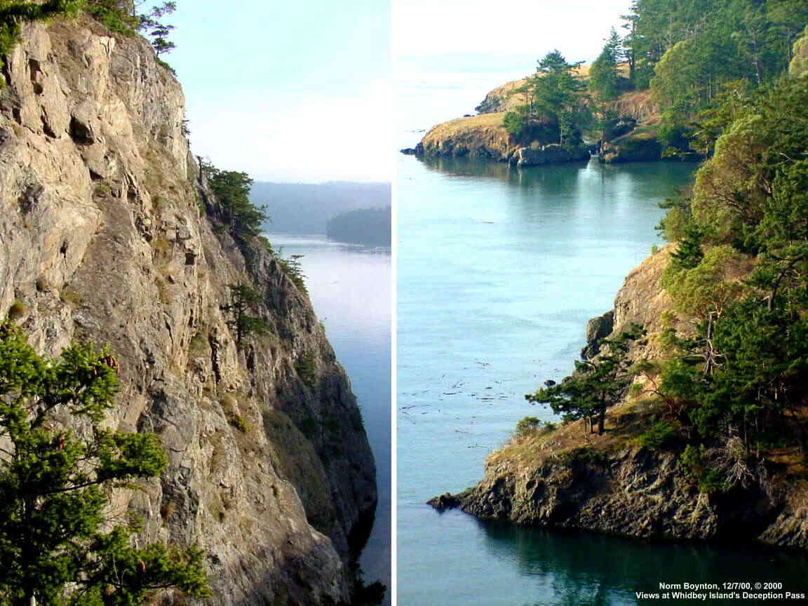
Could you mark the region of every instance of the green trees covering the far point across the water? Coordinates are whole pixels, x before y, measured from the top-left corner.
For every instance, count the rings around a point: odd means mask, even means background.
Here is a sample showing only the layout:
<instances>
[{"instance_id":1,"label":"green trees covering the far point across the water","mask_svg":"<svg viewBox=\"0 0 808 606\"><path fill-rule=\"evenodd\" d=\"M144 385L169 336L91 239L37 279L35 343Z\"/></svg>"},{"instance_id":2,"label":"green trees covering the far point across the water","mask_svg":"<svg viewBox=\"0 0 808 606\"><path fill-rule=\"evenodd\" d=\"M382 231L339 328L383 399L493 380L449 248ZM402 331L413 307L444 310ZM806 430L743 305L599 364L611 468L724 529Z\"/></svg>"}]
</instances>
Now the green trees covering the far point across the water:
<instances>
[{"instance_id":1,"label":"green trees covering the far point across the water","mask_svg":"<svg viewBox=\"0 0 808 606\"><path fill-rule=\"evenodd\" d=\"M626 132L621 95L648 90L659 105L654 131L663 156L710 154L721 134L711 114L730 98L774 86L795 57L808 24L797 0L635 0L612 28L600 55L578 75L557 50L511 92L524 104L503 126L518 137L527 129L541 144L575 145L581 133L611 141ZM796 61L795 61L796 59ZM720 119L719 119L720 122Z\"/></svg>"}]
</instances>

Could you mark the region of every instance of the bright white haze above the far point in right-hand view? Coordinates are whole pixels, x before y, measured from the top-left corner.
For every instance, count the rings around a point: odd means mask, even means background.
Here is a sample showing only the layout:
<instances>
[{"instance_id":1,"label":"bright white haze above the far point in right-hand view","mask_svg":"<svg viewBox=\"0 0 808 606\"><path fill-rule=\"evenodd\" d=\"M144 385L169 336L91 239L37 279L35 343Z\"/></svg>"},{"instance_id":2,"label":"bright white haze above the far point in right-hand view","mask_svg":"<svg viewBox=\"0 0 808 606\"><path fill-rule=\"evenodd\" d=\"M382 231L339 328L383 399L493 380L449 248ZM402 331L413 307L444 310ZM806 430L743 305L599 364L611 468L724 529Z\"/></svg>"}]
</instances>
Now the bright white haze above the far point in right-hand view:
<instances>
[{"instance_id":1,"label":"bright white haze above the far point in right-hand view","mask_svg":"<svg viewBox=\"0 0 808 606\"><path fill-rule=\"evenodd\" d=\"M393 0L396 142L474 113L486 93L536 70L554 48L593 61L631 0Z\"/></svg>"}]
</instances>

